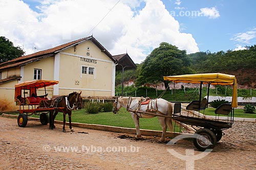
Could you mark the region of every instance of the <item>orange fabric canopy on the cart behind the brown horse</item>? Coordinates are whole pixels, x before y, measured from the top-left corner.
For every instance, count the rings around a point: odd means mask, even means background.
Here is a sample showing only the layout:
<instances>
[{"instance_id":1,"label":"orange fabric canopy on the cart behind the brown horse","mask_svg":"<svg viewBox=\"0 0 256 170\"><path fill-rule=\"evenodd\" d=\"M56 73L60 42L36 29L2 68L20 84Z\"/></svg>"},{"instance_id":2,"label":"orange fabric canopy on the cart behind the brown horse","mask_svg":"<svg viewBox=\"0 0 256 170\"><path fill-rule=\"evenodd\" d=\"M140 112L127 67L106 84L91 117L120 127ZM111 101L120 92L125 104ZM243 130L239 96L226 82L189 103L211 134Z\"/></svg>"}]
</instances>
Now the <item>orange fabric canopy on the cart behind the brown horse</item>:
<instances>
[{"instance_id":1,"label":"orange fabric canopy on the cart behind the brown horse","mask_svg":"<svg viewBox=\"0 0 256 170\"><path fill-rule=\"evenodd\" d=\"M55 80L33 80L33 81L26 81L26 82L15 84L15 88L16 87L25 87L25 89L26 87L42 88L42 87L52 86L58 83L59 81L55 81Z\"/></svg>"}]
</instances>

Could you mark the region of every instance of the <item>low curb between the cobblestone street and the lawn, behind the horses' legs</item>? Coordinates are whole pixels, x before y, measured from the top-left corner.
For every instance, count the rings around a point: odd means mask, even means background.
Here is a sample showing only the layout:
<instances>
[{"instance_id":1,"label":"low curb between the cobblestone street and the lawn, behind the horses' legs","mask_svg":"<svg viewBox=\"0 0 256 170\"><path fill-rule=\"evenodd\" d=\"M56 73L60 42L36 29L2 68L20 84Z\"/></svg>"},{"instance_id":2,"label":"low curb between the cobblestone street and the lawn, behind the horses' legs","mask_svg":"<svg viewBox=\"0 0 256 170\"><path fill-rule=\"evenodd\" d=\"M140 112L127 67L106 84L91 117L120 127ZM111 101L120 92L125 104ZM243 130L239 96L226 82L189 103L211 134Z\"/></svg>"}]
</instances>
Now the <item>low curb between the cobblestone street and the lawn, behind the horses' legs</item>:
<instances>
[{"instance_id":1,"label":"low curb between the cobblestone street and the lawn, behind the horses' legs","mask_svg":"<svg viewBox=\"0 0 256 170\"><path fill-rule=\"evenodd\" d=\"M3 117L10 117L10 118L17 118L18 115L11 115L11 114L2 114ZM39 118L35 117L29 117L29 120L37 120L39 121ZM54 120L54 123L57 124L63 124L62 121ZM69 123L66 123L66 125L69 125ZM118 133L130 133L130 134L136 134L136 129L134 128L122 128L122 127L114 127L114 126L105 126L105 125L95 125L95 124L81 124L81 123L72 123L72 126L79 127L79 128L87 128L87 129L93 129L93 130L102 130L102 131L110 131L110 132L118 132ZM162 131L155 131L155 130L145 130L140 129L141 135L145 136L162 136ZM166 137L172 137L180 135L180 133L171 133L166 132Z\"/></svg>"}]
</instances>

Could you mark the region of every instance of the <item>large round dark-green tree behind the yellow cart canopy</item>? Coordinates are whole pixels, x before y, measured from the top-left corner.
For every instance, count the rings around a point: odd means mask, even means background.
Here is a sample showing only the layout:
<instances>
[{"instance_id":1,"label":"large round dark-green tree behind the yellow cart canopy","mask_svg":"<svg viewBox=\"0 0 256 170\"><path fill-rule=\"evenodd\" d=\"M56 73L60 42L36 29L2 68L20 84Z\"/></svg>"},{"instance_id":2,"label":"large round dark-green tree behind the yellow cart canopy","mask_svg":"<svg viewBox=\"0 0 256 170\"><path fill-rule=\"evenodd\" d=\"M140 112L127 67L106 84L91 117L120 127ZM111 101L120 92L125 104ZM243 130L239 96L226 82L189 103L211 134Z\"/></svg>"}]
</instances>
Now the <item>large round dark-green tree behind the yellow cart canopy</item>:
<instances>
[{"instance_id":1,"label":"large round dark-green tree behind the yellow cart canopy","mask_svg":"<svg viewBox=\"0 0 256 170\"><path fill-rule=\"evenodd\" d=\"M165 88L169 81L164 81L163 76L182 75L193 72L189 68L190 60L185 50L167 42L161 42L142 63L136 85L145 83L164 82Z\"/></svg>"}]
</instances>

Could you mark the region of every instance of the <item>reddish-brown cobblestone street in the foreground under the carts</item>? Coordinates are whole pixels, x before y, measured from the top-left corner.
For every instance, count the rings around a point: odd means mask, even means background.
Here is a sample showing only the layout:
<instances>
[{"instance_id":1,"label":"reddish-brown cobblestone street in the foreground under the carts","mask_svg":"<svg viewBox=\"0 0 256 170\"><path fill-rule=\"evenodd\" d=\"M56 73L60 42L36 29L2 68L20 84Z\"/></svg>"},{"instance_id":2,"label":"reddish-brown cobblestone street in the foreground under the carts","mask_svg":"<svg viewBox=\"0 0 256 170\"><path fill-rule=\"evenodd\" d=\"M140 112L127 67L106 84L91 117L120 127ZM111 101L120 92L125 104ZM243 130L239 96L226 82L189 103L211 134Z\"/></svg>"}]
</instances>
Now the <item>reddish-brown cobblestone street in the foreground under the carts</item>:
<instances>
[{"instance_id":1,"label":"reddish-brown cobblestone street in the foreground under the carts","mask_svg":"<svg viewBox=\"0 0 256 170\"><path fill-rule=\"evenodd\" d=\"M16 118L0 116L0 169L186 169L189 161L182 157L198 159L203 153L189 140L166 145L154 137L133 140L132 134L61 129L34 120L20 128ZM255 169L256 124L236 122L224 132L214 150L194 162L195 169Z\"/></svg>"}]
</instances>

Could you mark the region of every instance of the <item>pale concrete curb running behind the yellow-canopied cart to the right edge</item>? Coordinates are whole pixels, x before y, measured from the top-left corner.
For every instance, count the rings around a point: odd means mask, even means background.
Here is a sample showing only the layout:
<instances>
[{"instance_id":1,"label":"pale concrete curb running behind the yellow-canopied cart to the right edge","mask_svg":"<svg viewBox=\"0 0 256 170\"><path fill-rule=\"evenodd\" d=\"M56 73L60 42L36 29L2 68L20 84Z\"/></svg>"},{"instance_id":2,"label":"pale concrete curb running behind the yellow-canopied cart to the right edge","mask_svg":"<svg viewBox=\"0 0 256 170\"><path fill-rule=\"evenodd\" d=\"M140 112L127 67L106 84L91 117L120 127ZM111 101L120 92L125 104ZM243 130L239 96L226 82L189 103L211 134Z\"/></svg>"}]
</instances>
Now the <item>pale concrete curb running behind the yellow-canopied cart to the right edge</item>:
<instances>
[{"instance_id":1,"label":"pale concrete curb running behind the yellow-canopied cart to the right edge","mask_svg":"<svg viewBox=\"0 0 256 170\"><path fill-rule=\"evenodd\" d=\"M181 107L183 110L186 110L186 107L182 106ZM188 110L186 110L188 111ZM204 115L202 113L199 113L197 111L189 111L190 113L194 113L195 115L205 118L205 119L215 119L215 116L208 116L208 115ZM227 117L225 116L219 116L218 117L219 120L227 120ZM244 117L234 117L234 122L252 122L252 123L256 123L256 118L244 118Z\"/></svg>"}]
</instances>

